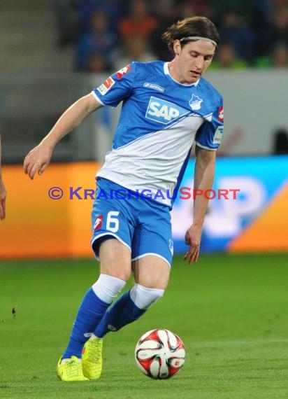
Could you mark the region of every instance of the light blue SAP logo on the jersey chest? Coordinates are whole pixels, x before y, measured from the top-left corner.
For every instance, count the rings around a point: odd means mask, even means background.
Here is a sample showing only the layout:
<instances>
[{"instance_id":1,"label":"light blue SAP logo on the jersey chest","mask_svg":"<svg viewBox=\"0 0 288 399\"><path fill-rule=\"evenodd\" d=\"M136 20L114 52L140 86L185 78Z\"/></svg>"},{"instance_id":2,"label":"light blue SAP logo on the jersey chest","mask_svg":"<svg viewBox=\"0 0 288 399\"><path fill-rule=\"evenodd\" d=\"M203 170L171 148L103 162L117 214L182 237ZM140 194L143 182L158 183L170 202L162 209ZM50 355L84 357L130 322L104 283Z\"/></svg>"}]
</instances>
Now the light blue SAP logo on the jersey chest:
<instances>
[{"instance_id":1,"label":"light blue SAP logo on the jersey chest","mask_svg":"<svg viewBox=\"0 0 288 399\"><path fill-rule=\"evenodd\" d=\"M168 102L157 97L150 97L145 118L167 125L171 120L180 118L180 116L184 116L187 113L189 113L187 109L181 108L173 104L173 102Z\"/></svg>"}]
</instances>

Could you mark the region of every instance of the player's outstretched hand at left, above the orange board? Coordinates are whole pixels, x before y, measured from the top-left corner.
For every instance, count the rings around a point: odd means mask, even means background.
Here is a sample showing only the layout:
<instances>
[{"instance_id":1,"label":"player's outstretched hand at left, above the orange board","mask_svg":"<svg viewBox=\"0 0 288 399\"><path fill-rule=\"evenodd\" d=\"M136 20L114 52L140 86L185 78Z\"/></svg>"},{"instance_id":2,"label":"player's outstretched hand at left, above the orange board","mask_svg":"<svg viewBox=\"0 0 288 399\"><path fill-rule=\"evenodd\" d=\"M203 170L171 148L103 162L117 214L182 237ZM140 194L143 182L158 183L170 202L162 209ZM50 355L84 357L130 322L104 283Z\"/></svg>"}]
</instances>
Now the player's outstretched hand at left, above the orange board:
<instances>
[{"instance_id":1,"label":"player's outstretched hand at left, above the orange board","mask_svg":"<svg viewBox=\"0 0 288 399\"><path fill-rule=\"evenodd\" d=\"M28 174L31 180L34 179L36 173L41 176L48 167L51 157L52 148L48 147L45 143L38 144L24 159L24 173Z\"/></svg>"}]
</instances>

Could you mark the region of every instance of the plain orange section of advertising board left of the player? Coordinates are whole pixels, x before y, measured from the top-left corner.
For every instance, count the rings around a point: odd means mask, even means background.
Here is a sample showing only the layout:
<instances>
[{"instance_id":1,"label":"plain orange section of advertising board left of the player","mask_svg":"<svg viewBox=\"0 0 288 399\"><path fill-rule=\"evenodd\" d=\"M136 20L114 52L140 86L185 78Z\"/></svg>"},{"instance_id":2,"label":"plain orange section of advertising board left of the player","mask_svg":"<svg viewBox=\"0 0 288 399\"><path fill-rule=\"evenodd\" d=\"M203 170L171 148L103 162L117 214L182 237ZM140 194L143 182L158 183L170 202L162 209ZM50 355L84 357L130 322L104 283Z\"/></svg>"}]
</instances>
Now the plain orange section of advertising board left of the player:
<instances>
[{"instance_id":1,"label":"plain orange section of advertising board left of the player","mask_svg":"<svg viewBox=\"0 0 288 399\"><path fill-rule=\"evenodd\" d=\"M0 259L94 256L90 248L93 200L69 198L70 188L81 187L80 197L84 189L95 189L99 167L96 162L52 164L34 181L21 166L3 167L8 197L6 219L0 223Z\"/></svg>"}]
</instances>

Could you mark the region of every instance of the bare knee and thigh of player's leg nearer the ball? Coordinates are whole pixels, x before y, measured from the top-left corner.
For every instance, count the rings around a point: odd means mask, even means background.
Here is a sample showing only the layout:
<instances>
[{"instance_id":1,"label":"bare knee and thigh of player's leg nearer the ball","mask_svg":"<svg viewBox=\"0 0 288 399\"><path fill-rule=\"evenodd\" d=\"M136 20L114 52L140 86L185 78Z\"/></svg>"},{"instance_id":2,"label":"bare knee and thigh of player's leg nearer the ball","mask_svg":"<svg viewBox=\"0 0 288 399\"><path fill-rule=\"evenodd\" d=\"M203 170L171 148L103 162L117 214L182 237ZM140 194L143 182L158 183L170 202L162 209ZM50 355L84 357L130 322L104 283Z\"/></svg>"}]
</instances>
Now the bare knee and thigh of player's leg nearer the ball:
<instances>
[{"instance_id":1,"label":"bare knee and thigh of player's leg nearer the ball","mask_svg":"<svg viewBox=\"0 0 288 399\"><path fill-rule=\"evenodd\" d=\"M135 282L147 288L166 289L170 266L166 260L155 255L145 255L132 263Z\"/></svg>"}]
</instances>

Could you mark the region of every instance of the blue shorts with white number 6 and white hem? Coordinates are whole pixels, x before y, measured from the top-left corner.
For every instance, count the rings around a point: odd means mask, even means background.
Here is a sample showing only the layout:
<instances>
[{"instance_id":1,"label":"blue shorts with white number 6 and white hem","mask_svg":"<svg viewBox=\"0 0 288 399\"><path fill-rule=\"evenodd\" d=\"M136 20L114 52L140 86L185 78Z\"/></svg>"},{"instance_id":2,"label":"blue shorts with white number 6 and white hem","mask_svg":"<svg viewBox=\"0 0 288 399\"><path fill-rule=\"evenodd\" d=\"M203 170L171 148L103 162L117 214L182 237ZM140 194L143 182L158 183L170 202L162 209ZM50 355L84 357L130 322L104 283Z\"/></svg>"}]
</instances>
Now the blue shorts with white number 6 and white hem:
<instances>
[{"instance_id":1,"label":"blue shorts with white number 6 and white hem","mask_svg":"<svg viewBox=\"0 0 288 399\"><path fill-rule=\"evenodd\" d=\"M143 198L113 181L98 178L92 210L92 248L115 237L131 251L131 260L156 255L171 265L173 241L169 207Z\"/></svg>"}]
</instances>

